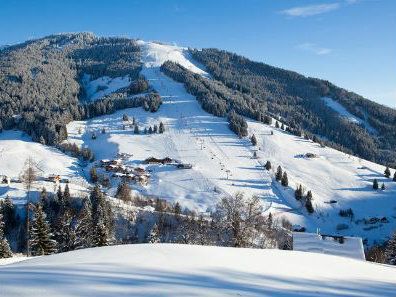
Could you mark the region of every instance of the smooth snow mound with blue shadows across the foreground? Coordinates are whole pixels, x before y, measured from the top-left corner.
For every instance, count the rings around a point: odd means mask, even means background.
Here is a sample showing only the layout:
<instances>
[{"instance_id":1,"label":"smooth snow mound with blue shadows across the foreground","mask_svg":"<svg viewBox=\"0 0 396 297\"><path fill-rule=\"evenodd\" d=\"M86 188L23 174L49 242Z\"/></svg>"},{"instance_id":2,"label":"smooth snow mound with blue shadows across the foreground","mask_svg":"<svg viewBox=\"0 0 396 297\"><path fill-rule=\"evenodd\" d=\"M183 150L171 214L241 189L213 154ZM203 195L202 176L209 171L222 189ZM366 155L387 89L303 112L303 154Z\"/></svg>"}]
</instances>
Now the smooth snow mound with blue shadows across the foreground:
<instances>
[{"instance_id":1,"label":"smooth snow mound with blue shadows across the foreground","mask_svg":"<svg viewBox=\"0 0 396 297\"><path fill-rule=\"evenodd\" d=\"M0 266L1 296L394 296L396 269L295 251L174 244L84 249Z\"/></svg>"}]
</instances>

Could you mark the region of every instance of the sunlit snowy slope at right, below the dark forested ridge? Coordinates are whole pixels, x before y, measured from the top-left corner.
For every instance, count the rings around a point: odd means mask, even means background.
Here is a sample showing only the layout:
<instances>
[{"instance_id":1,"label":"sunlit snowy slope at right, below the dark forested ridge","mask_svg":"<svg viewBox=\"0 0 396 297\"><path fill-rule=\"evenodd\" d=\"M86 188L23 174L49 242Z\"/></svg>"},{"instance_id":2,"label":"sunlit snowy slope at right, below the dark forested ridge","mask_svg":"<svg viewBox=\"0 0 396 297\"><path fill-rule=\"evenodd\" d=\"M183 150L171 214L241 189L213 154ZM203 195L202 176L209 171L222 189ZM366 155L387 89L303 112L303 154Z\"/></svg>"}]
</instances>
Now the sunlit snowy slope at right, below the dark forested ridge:
<instances>
[{"instance_id":1,"label":"sunlit snowy slope at right, below the dark forested ridge","mask_svg":"<svg viewBox=\"0 0 396 297\"><path fill-rule=\"evenodd\" d=\"M252 120L248 120L248 125L249 134L254 133L257 138L260 162L265 164L269 160L272 163L271 176L274 176L278 165L288 173L289 188L275 181L272 184L278 201L283 199L283 205L272 203L270 211L275 212L276 216L285 215L311 232L320 228L325 234L359 236L367 239L369 244L384 240L396 228L396 183L384 177L384 166L321 147L310 140ZM307 158L307 153L317 157ZM385 184L385 191L372 189L375 178L380 185ZM315 213L312 215L308 215L305 207L294 198L294 190L300 184L313 193ZM329 203L331 200L337 203ZM340 209L348 208L354 212L352 221L338 214ZM389 222L368 224L362 221L382 217ZM346 224L348 229L337 230L338 224Z\"/></svg>"}]
</instances>

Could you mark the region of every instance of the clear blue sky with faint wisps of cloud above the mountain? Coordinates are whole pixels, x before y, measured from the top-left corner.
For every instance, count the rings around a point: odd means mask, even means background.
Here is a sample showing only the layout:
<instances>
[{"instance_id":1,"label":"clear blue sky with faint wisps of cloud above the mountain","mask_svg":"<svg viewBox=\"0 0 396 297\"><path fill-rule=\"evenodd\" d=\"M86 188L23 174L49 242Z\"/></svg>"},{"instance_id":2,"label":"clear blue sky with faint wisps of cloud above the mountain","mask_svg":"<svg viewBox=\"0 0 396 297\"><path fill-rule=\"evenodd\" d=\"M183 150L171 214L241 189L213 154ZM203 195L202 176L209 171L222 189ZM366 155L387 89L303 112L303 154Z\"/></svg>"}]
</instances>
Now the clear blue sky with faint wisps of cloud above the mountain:
<instances>
[{"instance_id":1,"label":"clear blue sky with faint wisps of cloud above the mountain","mask_svg":"<svg viewBox=\"0 0 396 297\"><path fill-rule=\"evenodd\" d=\"M216 47L396 107L396 0L0 0L0 28Z\"/></svg>"}]
</instances>

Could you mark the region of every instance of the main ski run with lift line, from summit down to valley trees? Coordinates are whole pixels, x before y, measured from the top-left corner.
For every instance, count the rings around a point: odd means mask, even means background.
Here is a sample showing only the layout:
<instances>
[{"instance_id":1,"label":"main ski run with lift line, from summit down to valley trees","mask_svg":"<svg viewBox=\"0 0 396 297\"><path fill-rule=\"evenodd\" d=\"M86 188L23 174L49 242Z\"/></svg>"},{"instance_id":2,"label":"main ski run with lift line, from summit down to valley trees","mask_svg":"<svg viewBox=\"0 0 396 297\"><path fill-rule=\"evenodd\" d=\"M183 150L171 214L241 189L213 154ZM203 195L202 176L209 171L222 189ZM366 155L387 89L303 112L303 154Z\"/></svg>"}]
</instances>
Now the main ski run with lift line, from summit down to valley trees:
<instances>
[{"instance_id":1,"label":"main ski run with lift line, from summit down to valley trees","mask_svg":"<svg viewBox=\"0 0 396 297\"><path fill-rule=\"evenodd\" d=\"M111 159L118 153L133 155L130 164L140 165L150 157L171 157L193 164L192 170L172 170L166 166L151 166L152 181L144 194L155 195L199 211L210 209L221 194L243 191L258 195L263 202L277 200L271 190L271 178L252 159L249 142L238 139L228 128L226 119L204 112L195 97L184 86L165 76L159 69L166 60L205 75L184 56L184 50L156 43L142 43L144 67L142 75L157 90L164 104L156 113L128 109L113 115L68 125L69 141L87 145L97 159ZM162 121L164 134L135 135L133 129L122 129L122 115L135 118L140 130ZM92 140L91 133L104 128ZM78 131L82 133L78 133ZM228 173L228 179L227 179ZM220 193L219 193L220 192Z\"/></svg>"}]
</instances>

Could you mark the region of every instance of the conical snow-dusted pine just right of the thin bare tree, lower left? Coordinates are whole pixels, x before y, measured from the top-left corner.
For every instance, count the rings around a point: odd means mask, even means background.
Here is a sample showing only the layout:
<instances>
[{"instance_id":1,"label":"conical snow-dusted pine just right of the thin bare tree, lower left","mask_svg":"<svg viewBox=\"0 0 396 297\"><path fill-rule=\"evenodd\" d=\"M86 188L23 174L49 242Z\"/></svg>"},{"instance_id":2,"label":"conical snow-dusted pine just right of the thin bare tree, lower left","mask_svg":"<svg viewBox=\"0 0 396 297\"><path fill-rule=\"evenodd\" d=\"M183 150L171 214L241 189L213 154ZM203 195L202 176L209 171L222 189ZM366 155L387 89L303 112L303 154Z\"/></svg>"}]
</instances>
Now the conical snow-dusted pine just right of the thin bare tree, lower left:
<instances>
[{"instance_id":1,"label":"conical snow-dusted pine just right of the thin bare tree, lower left","mask_svg":"<svg viewBox=\"0 0 396 297\"><path fill-rule=\"evenodd\" d=\"M34 210L34 218L30 231L30 247L34 256L50 255L56 252L56 241L52 239L48 222L41 204Z\"/></svg>"}]
</instances>

